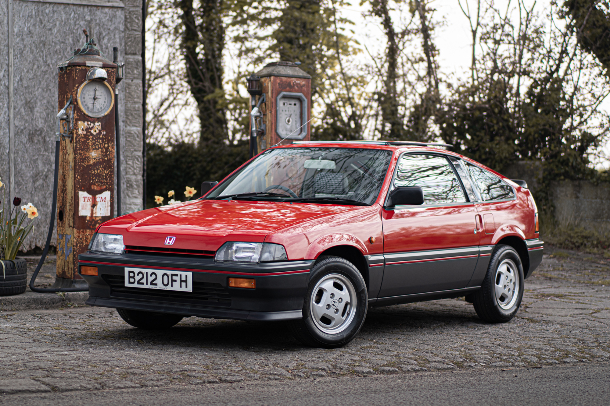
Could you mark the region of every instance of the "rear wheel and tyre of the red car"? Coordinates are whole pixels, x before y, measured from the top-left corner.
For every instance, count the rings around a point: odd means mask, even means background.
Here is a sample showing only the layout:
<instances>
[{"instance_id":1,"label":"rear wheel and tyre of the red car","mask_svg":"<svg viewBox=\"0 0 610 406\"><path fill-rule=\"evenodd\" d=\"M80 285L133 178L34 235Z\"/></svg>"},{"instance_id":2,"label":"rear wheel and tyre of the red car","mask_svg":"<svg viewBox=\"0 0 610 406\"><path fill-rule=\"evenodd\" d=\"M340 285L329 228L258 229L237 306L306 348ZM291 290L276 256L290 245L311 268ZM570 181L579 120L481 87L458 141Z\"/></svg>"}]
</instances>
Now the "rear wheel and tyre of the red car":
<instances>
[{"instance_id":1,"label":"rear wheel and tyre of the red car","mask_svg":"<svg viewBox=\"0 0 610 406\"><path fill-rule=\"evenodd\" d=\"M472 294L476 314L484 321L510 321L523 298L523 265L514 248L498 245L492 253L481 290Z\"/></svg>"}]
</instances>

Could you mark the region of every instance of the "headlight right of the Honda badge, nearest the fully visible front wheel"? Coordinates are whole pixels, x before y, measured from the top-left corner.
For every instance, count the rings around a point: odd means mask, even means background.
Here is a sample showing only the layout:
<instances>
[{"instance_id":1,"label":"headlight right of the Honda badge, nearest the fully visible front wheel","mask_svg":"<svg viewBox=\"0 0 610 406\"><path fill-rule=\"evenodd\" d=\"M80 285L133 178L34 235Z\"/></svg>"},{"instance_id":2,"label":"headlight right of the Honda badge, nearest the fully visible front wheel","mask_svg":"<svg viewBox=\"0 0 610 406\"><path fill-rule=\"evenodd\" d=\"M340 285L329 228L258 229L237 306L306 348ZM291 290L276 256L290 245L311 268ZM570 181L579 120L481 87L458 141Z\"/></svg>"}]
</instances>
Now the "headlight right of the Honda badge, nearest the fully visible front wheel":
<instances>
[{"instance_id":1,"label":"headlight right of the Honda badge, nearest the fully visible front wheel","mask_svg":"<svg viewBox=\"0 0 610 406\"><path fill-rule=\"evenodd\" d=\"M224 243L214 257L218 262L271 262L287 261L286 250L280 244L271 243Z\"/></svg>"}]
</instances>

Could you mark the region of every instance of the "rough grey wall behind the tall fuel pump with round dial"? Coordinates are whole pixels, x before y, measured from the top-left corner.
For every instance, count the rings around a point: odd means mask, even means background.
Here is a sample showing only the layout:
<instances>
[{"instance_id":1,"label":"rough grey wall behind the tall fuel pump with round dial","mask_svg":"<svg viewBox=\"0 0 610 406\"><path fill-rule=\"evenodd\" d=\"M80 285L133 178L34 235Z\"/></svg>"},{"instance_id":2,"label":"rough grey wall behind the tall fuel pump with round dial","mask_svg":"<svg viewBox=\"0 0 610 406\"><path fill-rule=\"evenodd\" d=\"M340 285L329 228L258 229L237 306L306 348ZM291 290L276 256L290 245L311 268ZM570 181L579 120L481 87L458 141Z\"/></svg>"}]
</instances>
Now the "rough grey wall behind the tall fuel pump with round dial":
<instances>
[{"instance_id":1,"label":"rough grey wall behind the tall fuel pump with round dial","mask_svg":"<svg viewBox=\"0 0 610 406\"><path fill-rule=\"evenodd\" d=\"M9 135L9 35L13 9L14 132ZM93 27L98 48L112 60L118 46L126 79L118 85L123 176L122 212L142 208L142 3L140 0L8 0L0 2L0 177L11 194L38 207L24 249L42 247L50 219L57 114L57 67ZM15 146L10 154L10 138ZM14 174L10 157L14 157ZM1 197L0 197L1 199ZM12 200L12 198L10 198ZM116 212L116 211L115 211ZM56 238L53 238L54 244Z\"/></svg>"}]
</instances>

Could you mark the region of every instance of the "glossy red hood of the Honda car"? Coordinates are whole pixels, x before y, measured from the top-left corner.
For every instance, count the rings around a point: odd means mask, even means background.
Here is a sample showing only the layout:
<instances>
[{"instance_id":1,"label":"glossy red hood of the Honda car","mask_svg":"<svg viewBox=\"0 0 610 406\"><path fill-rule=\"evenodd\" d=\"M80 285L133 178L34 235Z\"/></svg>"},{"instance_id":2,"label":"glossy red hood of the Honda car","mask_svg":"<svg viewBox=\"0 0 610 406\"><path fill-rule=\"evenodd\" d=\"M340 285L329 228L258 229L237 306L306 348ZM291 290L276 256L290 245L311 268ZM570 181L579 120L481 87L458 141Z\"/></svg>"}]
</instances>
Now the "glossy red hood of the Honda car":
<instances>
[{"instance_id":1,"label":"glossy red hood of the Honda car","mask_svg":"<svg viewBox=\"0 0 610 406\"><path fill-rule=\"evenodd\" d=\"M176 237L173 249L216 251L226 241L264 241L285 226L317 216L343 212L349 206L197 200L165 205L112 219L101 233L123 235L126 246L169 248L166 237Z\"/></svg>"}]
</instances>

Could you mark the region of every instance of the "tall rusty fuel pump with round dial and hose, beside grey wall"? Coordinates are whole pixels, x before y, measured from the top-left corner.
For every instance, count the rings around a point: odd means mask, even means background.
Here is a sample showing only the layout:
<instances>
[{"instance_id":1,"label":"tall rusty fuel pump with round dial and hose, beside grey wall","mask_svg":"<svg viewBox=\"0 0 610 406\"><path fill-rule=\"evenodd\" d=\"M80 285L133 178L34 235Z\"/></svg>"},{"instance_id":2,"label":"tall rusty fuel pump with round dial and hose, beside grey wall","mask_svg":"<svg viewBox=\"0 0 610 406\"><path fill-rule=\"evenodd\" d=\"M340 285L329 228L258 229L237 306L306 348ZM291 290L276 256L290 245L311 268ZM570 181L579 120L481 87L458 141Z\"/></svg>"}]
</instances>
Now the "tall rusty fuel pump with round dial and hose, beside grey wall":
<instances>
[{"instance_id":1,"label":"tall rusty fuel pump with round dial and hose, beside grey wall","mask_svg":"<svg viewBox=\"0 0 610 406\"><path fill-rule=\"evenodd\" d=\"M87 251L99 224L114 216L118 144L115 90L123 66L117 62L118 49L114 52L115 62L110 62L101 56L93 36L89 39L87 30L83 32L87 37L84 47L57 65L60 111L53 186L56 199L45 249L30 280L33 291L88 290L77 272L77 255ZM51 288L35 288L34 280L49 250L56 213L57 277Z\"/></svg>"}]
</instances>

